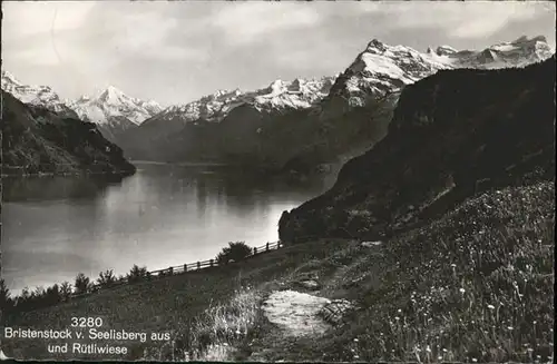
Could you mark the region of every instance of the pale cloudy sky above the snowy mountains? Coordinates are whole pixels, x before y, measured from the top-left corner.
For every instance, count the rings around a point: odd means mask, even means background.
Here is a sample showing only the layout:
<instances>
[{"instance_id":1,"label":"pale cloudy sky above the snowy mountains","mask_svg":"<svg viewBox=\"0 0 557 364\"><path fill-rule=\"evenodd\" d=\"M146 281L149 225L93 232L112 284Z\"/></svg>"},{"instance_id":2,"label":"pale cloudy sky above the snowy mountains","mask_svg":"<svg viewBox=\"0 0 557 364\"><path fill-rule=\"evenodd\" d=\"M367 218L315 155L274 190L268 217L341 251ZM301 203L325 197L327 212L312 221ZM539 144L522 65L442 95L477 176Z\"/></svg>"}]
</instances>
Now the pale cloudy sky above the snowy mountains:
<instances>
[{"instance_id":1,"label":"pale cloudy sky above the snowy mountains","mask_svg":"<svg viewBox=\"0 0 557 364\"><path fill-rule=\"evenodd\" d=\"M163 106L342 72L372 39L420 51L522 35L555 49L545 1L3 1L2 69L62 98L109 85Z\"/></svg>"}]
</instances>

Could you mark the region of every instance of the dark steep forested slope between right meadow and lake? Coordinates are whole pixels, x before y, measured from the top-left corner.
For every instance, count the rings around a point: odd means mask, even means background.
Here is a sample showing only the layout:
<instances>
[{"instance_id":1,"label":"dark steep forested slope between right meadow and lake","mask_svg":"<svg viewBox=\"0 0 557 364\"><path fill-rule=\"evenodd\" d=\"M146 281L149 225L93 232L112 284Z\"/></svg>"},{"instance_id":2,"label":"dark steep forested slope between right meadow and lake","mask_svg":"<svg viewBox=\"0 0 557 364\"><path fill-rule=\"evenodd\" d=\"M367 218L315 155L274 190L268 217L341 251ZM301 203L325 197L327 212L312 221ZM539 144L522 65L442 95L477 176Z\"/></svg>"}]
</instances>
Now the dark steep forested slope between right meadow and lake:
<instances>
[{"instance_id":1,"label":"dark steep forested slope between right meadow and lake","mask_svg":"<svg viewBox=\"0 0 557 364\"><path fill-rule=\"evenodd\" d=\"M281 239L377 237L473 193L555 174L555 56L524 69L439 71L404 88L388 136L324 195L285 211Z\"/></svg>"}]
</instances>

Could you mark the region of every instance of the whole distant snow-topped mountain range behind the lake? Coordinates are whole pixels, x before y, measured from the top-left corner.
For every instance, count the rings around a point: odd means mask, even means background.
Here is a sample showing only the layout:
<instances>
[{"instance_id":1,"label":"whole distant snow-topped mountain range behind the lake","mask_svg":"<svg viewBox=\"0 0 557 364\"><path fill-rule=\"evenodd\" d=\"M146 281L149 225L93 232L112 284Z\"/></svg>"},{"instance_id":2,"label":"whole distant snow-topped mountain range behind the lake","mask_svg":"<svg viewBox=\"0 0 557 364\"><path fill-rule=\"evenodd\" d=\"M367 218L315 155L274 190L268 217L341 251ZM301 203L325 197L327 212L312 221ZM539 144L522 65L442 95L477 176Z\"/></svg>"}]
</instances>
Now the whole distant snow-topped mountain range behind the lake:
<instances>
[{"instance_id":1,"label":"whole distant snow-topped mountain range behind the lake","mask_svg":"<svg viewBox=\"0 0 557 364\"><path fill-rule=\"evenodd\" d=\"M544 37L520 37L479 51L440 46L426 52L373 39L336 76L275 80L255 91L219 90L164 109L115 87L62 100L51 88L25 86L6 71L2 89L22 102L97 124L133 159L296 171L379 141L408 85L440 70L522 67L550 56Z\"/></svg>"}]
</instances>

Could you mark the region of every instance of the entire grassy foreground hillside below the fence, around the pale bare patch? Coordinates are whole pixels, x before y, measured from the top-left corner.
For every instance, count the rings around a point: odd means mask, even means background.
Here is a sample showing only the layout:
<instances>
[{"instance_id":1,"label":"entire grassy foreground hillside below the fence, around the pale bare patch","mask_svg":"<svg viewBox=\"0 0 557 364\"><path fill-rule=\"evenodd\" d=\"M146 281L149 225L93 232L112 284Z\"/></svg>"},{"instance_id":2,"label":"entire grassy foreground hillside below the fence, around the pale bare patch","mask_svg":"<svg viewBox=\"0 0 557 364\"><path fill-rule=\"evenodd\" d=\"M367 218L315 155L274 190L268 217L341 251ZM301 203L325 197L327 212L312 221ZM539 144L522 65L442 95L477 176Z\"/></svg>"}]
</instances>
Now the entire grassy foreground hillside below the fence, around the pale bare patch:
<instances>
[{"instance_id":1,"label":"entire grassy foreground hillside below the fence, around the pale bare patch","mask_svg":"<svg viewBox=\"0 0 557 364\"><path fill-rule=\"evenodd\" d=\"M124 344L129 360L549 361L554 197L549 181L490 190L382 245L294 245L100 292L7 325L63 328L71 316L100 316L106 329L172 334L169 342ZM261 305L276 289L310 292L300 285L310 277L320 288L312 294L355 308L319 340L285 336ZM43 341L3 340L2 350L52 357Z\"/></svg>"}]
</instances>

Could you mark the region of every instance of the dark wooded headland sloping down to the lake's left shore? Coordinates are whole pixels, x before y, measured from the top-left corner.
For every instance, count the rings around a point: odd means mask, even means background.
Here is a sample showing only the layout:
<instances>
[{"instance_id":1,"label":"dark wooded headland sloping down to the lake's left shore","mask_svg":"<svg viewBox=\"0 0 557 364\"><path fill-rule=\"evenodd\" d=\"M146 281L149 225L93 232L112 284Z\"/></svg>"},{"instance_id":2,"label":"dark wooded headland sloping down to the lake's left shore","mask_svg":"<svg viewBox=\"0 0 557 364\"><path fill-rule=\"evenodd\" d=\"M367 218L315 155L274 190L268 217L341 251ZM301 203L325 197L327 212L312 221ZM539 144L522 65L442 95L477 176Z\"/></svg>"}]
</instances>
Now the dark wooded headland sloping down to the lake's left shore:
<instances>
[{"instance_id":1,"label":"dark wooded headland sloping down to the lake's left shore","mask_svg":"<svg viewBox=\"0 0 557 364\"><path fill-rule=\"evenodd\" d=\"M2 90L2 174L135 171L92 122L26 105Z\"/></svg>"}]
</instances>

